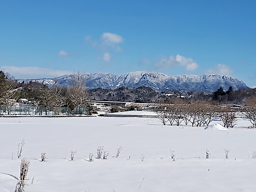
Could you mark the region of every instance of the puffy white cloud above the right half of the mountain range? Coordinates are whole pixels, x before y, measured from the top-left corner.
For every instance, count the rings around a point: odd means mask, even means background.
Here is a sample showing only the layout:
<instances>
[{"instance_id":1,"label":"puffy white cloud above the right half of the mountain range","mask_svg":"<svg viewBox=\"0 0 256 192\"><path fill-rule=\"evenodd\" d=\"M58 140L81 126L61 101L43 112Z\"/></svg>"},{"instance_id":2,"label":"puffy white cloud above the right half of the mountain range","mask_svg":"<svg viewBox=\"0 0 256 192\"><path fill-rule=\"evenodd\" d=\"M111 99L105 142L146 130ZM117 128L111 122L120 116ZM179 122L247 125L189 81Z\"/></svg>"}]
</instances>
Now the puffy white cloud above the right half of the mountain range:
<instances>
[{"instance_id":1,"label":"puffy white cloud above the right half of the mountain range","mask_svg":"<svg viewBox=\"0 0 256 192\"><path fill-rule=\"evenodd\" d=\"M186 58L179 54L176 56L171 55L168 58L162 58L155 63L156 68L170 69L177 66L185 66L188 71L194 71L198 68L198 64L192 58Z\"/></svg>"}]
</instances>

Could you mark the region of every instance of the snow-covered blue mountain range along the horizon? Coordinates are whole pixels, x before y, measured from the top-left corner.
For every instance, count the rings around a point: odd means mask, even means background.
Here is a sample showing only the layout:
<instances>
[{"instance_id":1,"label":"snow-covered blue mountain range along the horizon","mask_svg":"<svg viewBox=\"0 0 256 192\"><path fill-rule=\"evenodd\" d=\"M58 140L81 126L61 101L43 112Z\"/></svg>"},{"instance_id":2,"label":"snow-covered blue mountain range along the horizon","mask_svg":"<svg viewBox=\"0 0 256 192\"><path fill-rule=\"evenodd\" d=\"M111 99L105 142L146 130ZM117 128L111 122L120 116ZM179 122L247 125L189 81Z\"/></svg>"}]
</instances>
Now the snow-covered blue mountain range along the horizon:
<instances>
[{"instance_id":1,"label":"snow-covered blue mountain range along the horizon","mask_svg":"<svg viewBox=\"0 0 256 192\"><path fill-rule=\"evenodd\" d=\"M158 72L136 71L122 75L111 73L86 73L86 85L88 89L103 88L116 89L118 87L150 87L157 91L165 90L195 90L214 92L220 87L227 90L232 86L233 90L248 88L247 85L236 78L226 75L165 75ZM45 85L59 85L67 87L72 84L72 74L56 78L18 79L19 82L36 81Z\"/></svg>"}]
</instances>

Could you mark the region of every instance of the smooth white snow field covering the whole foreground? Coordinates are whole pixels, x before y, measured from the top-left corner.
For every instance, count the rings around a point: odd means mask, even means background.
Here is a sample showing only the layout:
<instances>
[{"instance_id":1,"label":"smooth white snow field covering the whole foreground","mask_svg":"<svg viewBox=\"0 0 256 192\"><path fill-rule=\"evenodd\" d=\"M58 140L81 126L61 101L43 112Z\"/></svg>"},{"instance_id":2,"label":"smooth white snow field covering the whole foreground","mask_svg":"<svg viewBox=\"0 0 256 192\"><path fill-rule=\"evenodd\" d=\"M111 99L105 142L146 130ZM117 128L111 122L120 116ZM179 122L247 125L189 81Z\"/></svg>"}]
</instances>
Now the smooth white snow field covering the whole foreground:
<instances>
[{"instance_id":1,"label":"smooth white snow field covering the whole foreground","mask_svg":"<svg viewBox=\"0 0 256 192\"><path fill-rule=\"evenodd\" d=\"M0 118L0 192L15 190L24 157L30 160L26 192L255 191L256 130L249 126L244 119L228 131L209 131L135 117ZM98 146L109 151L107 159L96 159Z\"/></svg>"}]
</instances>

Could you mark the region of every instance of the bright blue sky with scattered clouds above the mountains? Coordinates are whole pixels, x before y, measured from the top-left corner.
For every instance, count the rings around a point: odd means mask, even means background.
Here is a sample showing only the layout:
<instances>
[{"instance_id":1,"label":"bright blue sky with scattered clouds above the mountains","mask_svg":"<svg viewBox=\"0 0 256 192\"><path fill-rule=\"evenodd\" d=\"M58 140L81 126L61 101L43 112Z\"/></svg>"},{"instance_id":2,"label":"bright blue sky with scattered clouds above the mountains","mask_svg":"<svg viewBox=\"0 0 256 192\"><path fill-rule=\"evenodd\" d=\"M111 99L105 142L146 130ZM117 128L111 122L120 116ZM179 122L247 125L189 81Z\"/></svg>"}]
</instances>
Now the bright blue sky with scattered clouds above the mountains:
<instances>
[{"instance_id":1,"label":"bright blue sky with scattered clouds above the mountains","mask_svg":"<svg viewBox=\"0 0 256 192\"><path fill-rule=\"evenodd\" d=\"M256 85L256 1L2 1L0 70L230 75Z\"/></svg>"}]
</instances>

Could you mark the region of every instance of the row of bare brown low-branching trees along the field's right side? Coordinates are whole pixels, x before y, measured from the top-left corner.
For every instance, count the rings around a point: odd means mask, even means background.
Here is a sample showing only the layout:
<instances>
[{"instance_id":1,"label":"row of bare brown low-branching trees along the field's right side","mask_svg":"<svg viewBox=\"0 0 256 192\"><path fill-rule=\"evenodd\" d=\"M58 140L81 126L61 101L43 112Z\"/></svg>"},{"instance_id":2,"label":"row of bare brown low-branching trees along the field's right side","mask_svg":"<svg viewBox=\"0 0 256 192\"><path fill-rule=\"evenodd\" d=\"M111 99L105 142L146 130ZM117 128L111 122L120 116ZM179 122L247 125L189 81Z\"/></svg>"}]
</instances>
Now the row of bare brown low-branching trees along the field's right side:
<instances>
[{"instance_id":1,"label":"row of bare brown low-branching trees along the field's right side","mask_svg":"<svg viewBox=\"0 0 256 192\"><path fill-rule=\"evenodd\" d=\"M181 98L173 98L155 108L158 118L163 125L180 126L181 123L192 127L209 126L209 124L220 119L224 127L234 127L237 114L230 106L216 105L215 102L190 101L185 102ZM251 122L251 128L256 128L256 96L245 101L242 113L239 117L247 118Z\"/></svg>"}]
</instances>

